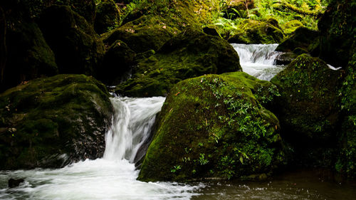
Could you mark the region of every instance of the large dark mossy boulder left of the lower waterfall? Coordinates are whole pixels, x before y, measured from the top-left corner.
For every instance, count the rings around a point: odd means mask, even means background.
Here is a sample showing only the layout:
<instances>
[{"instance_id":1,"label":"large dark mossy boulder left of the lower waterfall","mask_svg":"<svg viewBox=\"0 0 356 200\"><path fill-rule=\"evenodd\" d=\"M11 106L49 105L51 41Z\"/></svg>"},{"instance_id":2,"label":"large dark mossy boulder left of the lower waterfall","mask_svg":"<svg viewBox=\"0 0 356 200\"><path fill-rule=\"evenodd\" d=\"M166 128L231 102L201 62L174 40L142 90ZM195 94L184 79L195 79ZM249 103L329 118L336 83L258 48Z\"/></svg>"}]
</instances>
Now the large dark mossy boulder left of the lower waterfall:
<instances>
[{"instance_id":1,"label":"large dark mossy boulder left of the lower waterfall","mask_svg":"<svg viewBox=\"0 0 356 200\"><path fill-rule=\"evenodd\" d=\"M30 80L0 94L0 168L61 167L103 156L112 105L85 75Z\"/></svg>"}]
</instances>

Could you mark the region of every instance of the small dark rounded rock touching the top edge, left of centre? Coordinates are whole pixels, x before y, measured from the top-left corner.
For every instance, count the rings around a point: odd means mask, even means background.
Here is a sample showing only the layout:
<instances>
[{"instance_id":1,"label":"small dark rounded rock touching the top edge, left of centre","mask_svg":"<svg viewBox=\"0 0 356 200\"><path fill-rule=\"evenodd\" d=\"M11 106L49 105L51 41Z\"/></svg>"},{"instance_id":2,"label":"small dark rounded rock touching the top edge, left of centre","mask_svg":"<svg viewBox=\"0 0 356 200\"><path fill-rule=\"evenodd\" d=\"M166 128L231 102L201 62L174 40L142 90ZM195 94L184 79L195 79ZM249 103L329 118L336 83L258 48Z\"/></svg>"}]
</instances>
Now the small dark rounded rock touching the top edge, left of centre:
<instances>
[{"instance_id":1,"label":"small dark rounded rock touching the top edge, left of centre","mask_svg":"<svg viewBox=\"0 0 356 200\"><path fill-rule=\"evenodd\" d=\"M110 31L118 26L120 22L120 13L115 1L103 0L97 5L94 28L99 34Z\"/></svg>"}]
</instances>

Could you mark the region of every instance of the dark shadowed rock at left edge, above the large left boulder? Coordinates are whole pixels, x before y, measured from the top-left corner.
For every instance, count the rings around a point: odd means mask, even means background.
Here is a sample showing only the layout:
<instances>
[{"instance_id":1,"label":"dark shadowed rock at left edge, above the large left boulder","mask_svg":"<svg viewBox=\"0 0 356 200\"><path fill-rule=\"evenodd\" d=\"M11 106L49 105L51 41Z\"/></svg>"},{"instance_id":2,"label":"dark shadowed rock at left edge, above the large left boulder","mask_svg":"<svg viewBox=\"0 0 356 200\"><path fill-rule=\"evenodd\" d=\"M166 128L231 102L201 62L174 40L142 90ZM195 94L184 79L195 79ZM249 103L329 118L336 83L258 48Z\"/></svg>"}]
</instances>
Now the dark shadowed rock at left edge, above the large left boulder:
<instances>
[{"instance_id":1,"label":"dark shadowed rock at left edge, above the large left boulder","mask_svg":"<svg viewBox=\"0 0 356 200\"><path fill-rule=\"evenodd\" d=\"M7 59L2 60L0 91L23 81L58 73L53 51L36 23L17 21L6 32Z\"/></svg>"}]
</instances>

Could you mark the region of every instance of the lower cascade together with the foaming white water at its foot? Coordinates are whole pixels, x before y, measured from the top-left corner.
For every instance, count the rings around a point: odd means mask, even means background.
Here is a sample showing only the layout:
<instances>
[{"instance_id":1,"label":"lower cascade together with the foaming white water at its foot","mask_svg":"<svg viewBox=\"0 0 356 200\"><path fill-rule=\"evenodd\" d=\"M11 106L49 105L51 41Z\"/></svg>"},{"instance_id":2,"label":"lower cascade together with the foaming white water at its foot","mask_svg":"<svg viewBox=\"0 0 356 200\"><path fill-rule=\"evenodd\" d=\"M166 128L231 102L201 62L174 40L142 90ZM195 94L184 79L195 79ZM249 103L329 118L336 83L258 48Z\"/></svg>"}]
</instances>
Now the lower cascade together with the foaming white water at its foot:
<instances>
[{"instance_id":1,"label":"lower cascade together with the foaming white water at its foot","mask_svg":"<svg viewBox=\"0 0 356 200\"><path fill-rule=\"evenodd\" d=\"M190 199L202 185L137 181L132 160L148 137L164 98L112 98L115 117L102 159L62 169L2 171L0 199ZM7 188L10 178L25 183Z\"/></svg>"}]
</instances>

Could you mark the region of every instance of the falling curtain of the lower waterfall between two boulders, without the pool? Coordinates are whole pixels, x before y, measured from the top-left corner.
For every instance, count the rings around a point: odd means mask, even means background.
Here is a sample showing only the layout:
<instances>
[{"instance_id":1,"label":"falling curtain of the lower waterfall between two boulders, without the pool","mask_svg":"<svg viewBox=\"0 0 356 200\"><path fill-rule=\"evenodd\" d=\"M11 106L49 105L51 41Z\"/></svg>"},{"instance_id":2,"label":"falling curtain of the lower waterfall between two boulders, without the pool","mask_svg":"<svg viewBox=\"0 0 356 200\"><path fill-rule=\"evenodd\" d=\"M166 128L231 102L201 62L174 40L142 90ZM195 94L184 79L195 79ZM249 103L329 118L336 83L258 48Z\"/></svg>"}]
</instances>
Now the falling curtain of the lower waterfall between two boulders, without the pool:
<instances>
[{"instance_id":1,"label":"falling curtain of the lower waterfall between two boulders, without the pool","mask_svg":"<svg viewBox=\"0 0 356 200\"><path fill-rule=\"evenodd\" d=\"M157 112L165 98L111 98L115 109L112 127L105 137L104 159L134 162L140 146L147 140Z\"/></svg>"}]
</instances>

